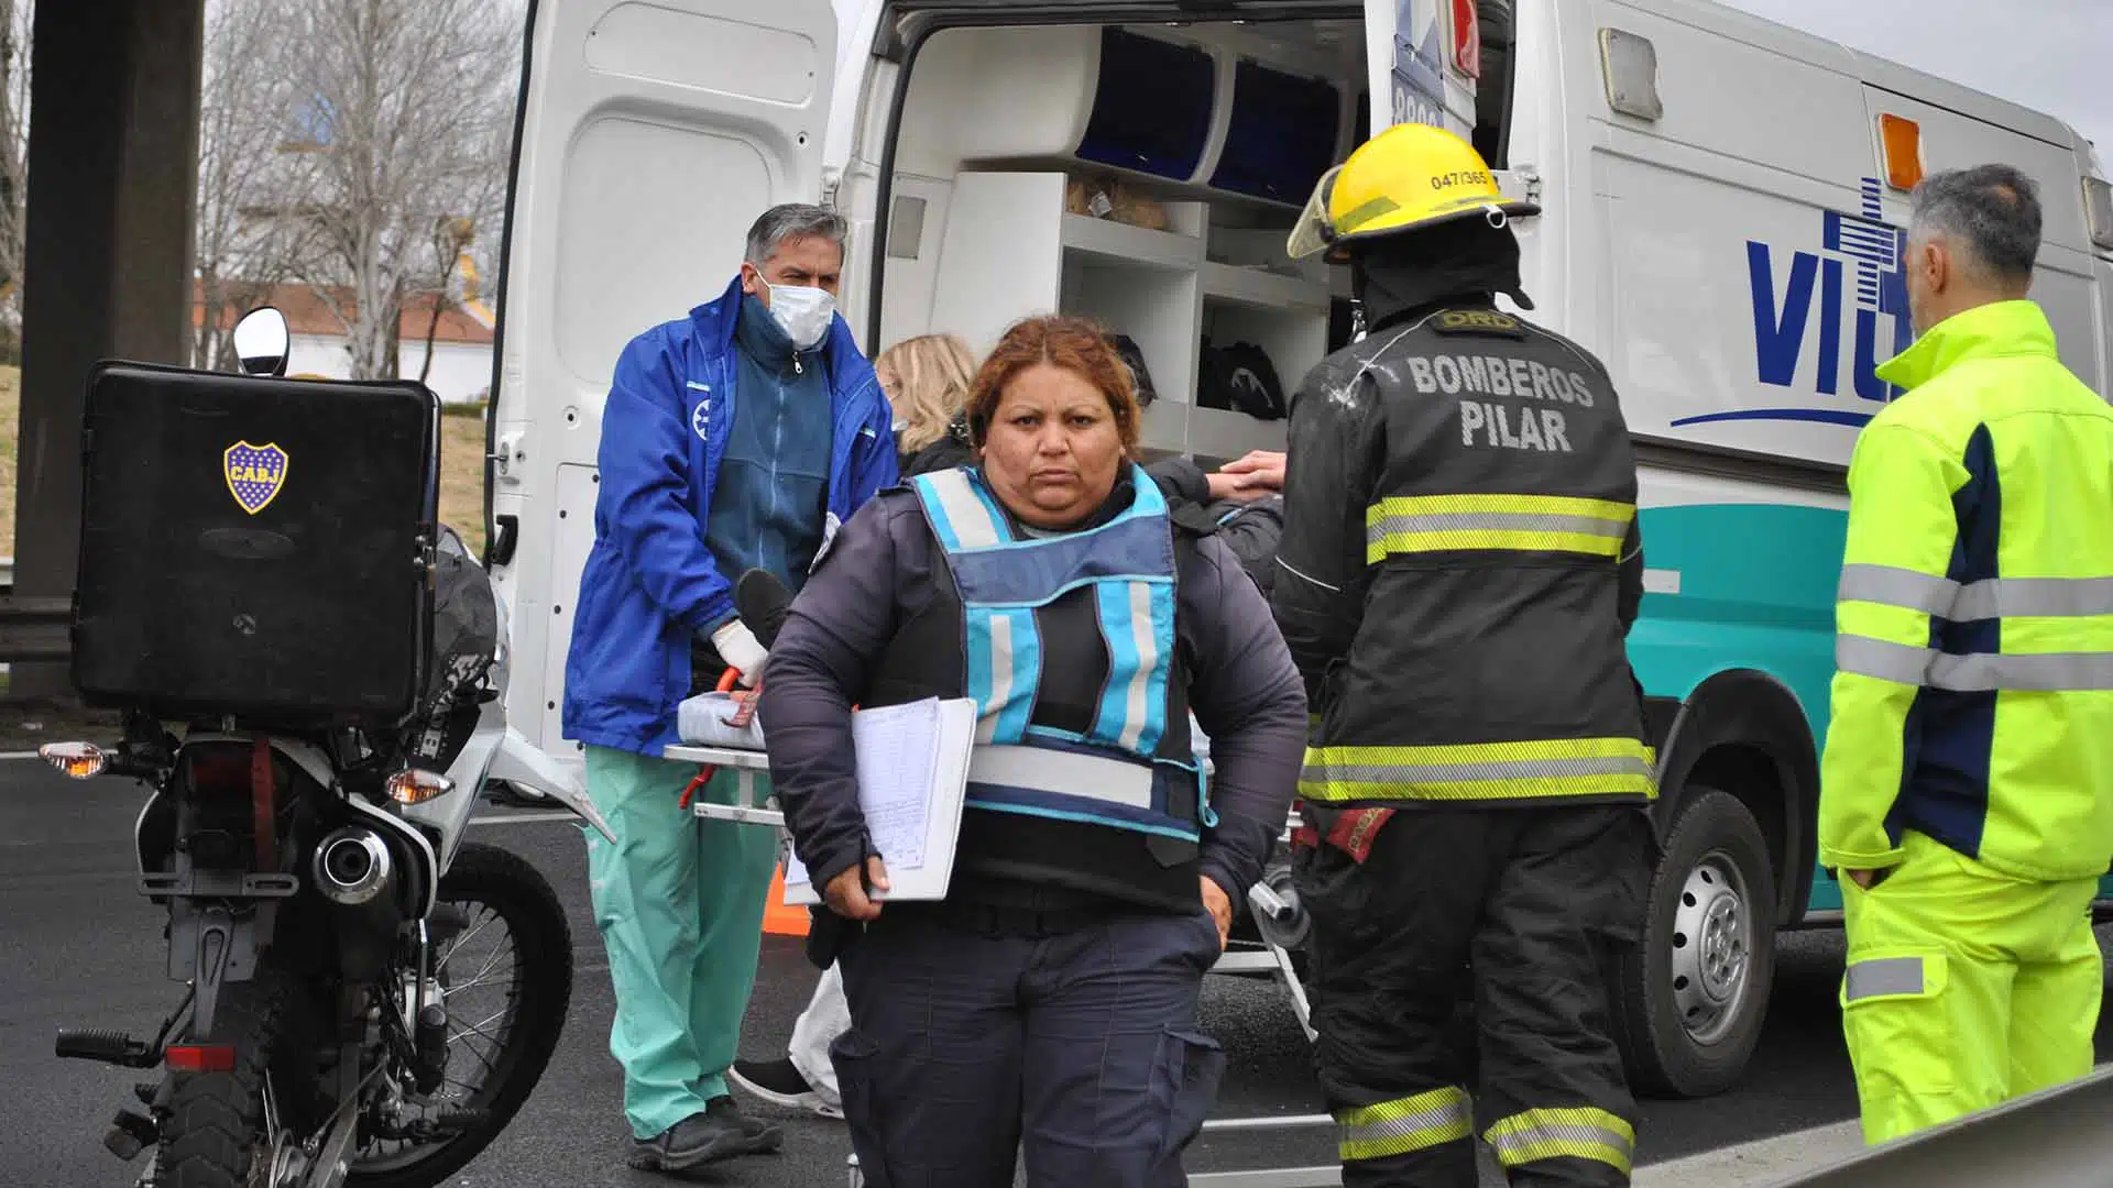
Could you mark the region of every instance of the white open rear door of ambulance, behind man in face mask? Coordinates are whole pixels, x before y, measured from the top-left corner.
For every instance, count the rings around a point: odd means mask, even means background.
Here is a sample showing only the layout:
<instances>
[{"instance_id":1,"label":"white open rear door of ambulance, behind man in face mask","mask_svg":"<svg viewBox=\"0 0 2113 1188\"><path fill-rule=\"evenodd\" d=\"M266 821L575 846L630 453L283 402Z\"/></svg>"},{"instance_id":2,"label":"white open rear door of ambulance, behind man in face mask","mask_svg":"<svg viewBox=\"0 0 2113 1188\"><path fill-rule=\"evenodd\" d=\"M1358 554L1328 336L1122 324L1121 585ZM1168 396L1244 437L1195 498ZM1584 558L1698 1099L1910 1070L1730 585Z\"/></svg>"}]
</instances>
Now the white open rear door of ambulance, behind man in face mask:
<instances>
[{"instance_id":1,"label":"white open rear door of ambulance, behind man in face mask","mask_svg":"<svg viewBox=\"0 0 2113 1188\"><path fill-rule=\"evenodd\" d=\"M535 0L492 397L507 712L558 757L623 345L718 296L773 203L822 199L830 0Z\"/></svg>"}]
</instances>

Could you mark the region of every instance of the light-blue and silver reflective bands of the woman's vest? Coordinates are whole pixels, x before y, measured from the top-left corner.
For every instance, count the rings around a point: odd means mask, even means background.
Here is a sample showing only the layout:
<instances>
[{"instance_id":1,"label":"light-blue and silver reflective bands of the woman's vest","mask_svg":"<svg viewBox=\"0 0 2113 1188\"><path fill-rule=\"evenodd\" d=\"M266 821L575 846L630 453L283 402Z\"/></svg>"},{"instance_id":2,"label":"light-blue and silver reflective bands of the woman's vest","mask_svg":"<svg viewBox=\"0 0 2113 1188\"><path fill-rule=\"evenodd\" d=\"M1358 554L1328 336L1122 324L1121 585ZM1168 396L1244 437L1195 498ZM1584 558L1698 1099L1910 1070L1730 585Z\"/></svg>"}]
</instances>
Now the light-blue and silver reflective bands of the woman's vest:
<instances>
[{"instance_id":1,"label":"light-blue and silver reflective bands of the woman's vest","mask_svg":"<svg viewBox=\"0 0 2113 1188\"><path fill-rule=\"evenodd\" d=\"M1200 765L1154 759L1175 657L1173 531L1160 488L1130 469L1137 495L1120 516L1029 539L1014 537L974 469L923 474L911 486L961 596L966 693L980 714L976 742L987 744L983 774L970 772L970 803L1194 841L1196 820L1168 808L1183 780L1202 803ZM1044 670L1035 609L1086 586L1107 653L1092 727L1078 736L1029 725ZM1006 753L1018 759L991 759ZM1200 816L1211 818L1207 808Z\"/></svg>"}]
</instances>

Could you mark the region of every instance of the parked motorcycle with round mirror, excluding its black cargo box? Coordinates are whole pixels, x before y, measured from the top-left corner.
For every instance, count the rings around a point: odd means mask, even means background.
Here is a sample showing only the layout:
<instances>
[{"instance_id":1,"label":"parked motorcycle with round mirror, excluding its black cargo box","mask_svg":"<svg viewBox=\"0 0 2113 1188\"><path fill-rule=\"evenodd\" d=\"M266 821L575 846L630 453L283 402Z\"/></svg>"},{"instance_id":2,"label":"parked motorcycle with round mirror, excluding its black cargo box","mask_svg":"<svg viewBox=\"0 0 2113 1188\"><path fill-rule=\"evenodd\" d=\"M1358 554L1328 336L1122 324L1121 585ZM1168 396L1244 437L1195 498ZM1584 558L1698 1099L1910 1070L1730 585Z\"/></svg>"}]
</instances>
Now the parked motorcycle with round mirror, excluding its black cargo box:
<instances>
[{"instance_id":1,"label":"parked motorcycle with round mirror, excluding its black cargo box","mask_svg":"<svg viewBox=\"0 0 2113 1188\"><path fill-rule=\"evenodd\" d=\"M275 309L235 328L241 370L283 376ZM127 712L114 748L57 742L74 778L148 786L139 894L169 913L186 985L152 1040L68 1029L57 1055L163 1070L104 1144L142 1188L427 1188L528 1099L564 1029L573 939L520 856L465 841L488 784L535 788L609 835L505 719L507 624L442 528L429 679L391 727L249 731ZM613 839L613 837L611 837Z\"/></svg>"}]
</instances>

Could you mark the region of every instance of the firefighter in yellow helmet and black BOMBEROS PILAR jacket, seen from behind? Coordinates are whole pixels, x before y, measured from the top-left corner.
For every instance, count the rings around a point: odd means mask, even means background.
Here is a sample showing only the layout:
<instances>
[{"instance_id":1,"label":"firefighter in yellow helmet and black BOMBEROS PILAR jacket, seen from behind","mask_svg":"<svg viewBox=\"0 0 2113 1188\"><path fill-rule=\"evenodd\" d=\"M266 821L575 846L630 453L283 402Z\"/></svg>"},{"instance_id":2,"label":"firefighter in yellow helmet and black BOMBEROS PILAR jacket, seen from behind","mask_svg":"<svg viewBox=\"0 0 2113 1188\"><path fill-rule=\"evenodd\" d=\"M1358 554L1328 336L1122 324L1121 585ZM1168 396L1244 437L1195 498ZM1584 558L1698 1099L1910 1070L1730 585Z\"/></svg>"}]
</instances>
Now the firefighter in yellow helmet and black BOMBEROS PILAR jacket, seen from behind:
<instances>
[{"instance_id":1,"label":"firefighter in yellow helmet and black BOMBEROS PILAR jacket, seen from behind","mask_svg":"<svg viewBox=\"0 0 2113 1188\"><path fill-rule=\"evenodd\" d=\"M1397 125L1289 243L1371 328L1293 397L1272 596L1316 710L1293 875L1348 1188L1469 1188L1477 1135L1513 1184L1627 1184L1635 1150L1602 981L1654 795L1635 459L1606 368L1496 307L1532 309L1528 214Z\"/></svg>"}]
</instances>

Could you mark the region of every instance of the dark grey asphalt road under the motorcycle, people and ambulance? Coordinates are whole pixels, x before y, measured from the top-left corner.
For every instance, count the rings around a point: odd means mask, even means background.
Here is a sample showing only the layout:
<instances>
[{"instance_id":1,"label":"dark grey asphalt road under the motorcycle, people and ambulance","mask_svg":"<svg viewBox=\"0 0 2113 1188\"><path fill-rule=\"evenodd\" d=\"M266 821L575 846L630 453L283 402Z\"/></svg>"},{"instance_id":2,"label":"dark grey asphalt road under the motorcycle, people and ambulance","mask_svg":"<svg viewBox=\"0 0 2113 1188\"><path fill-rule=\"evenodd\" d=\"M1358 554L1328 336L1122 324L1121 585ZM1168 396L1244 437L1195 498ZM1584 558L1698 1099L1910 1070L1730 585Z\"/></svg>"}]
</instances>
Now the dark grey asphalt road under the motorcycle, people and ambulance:
<instances>
[{"instance_id":1,"label":"dark grey asphalt road under the motorcycle, people and ambulance","mask_svg":"<svg viewBox=\"0 0 2113 1188\"><path fill-rule=\"evenodd\" d=\"M129 780L68 782L34 761L0 761L0 1186L129 1186L137 1167L101 1148L110 1116L131 1103L137 1074L59 1061L61 1025L118 1027L152 1036L180 987L165 981L163 917L131 890L131 824L139 791ZM647 1186L657 1175L623 1167L628 1131L621 1078L609 1057L613 1013L609 964L587 913L585 852L564 822L505 820L475 827L482 841L528 856L558 888L573 926L577 985L564 1038L528 1106L501 1139L452 1177L486 1186ZM1741 1087L1705 1101L1646 1101L1640 1163L1800 1131L1851 1118L1855 1093L1843 1051L1834 987L1834 932L1783 941L1769 1029ZM742 1051L782 1053L816 970L797 943L765 939L763 968ZM1211 979L1204 1027L1228 1051L1219 1118L1321 1110L1304 1036L1274 987ZM2100 1055L2113 1027L2100 1027ZM782 1116L786 1148L727 1165L706 1184L833 1188L843 1184L849 1144L841 1122ZM1325 1131L1204 1135L1190 1171L1308 1167L1331 1161Z\"/></svg>"}]
</instances>

